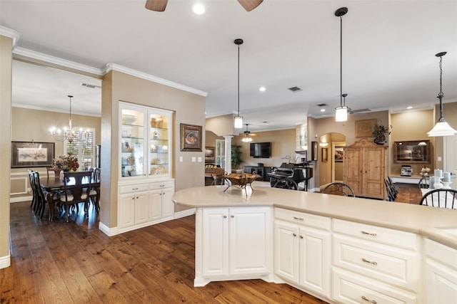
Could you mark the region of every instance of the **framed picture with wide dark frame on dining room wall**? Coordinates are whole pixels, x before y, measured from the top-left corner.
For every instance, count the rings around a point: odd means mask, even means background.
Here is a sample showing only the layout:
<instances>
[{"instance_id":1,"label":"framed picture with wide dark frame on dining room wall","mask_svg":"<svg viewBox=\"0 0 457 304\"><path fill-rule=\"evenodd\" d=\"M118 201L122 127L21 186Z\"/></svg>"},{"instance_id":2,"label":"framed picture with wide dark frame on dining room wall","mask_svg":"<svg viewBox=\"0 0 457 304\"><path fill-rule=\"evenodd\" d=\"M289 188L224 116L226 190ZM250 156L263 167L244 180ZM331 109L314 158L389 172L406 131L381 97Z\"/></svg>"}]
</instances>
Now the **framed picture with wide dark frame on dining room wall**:
<instances>
[{"instance_id":1,"label":"framed picture with wide dark frame on dining room wall","mask_svg":"<svg viewBox=\"0 0 457 304\"><path fill-rule=\"evenodd\" d=\"M11 168L51 167L54 142L11 142Z\"/></svg>"}]
</instances>

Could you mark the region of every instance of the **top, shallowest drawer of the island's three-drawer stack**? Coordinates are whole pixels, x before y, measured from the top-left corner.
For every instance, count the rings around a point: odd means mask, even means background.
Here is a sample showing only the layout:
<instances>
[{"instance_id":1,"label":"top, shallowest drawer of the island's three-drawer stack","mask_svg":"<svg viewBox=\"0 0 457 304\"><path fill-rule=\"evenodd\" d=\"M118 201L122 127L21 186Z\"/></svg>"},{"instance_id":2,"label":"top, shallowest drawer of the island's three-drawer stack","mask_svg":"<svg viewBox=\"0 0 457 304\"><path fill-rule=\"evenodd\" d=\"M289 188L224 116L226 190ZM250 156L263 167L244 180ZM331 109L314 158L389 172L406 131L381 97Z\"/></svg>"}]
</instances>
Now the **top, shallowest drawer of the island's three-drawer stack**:
<instances>
[{"instance_id":1,"label":"top, shallowest drawer of the island's three-drawer stack","mask_svg":"<svg viewBox=\"0 0 457 304\"><path fill-rule=\"evenodd\" d=\"M333 231L339 234L347 234L348 236L355 236L356 238L386 243L391 246L411 250L416 250L418 246L418 237L411 232L361 224L353 221L333 219Z\"/></svg>"}]
</instances>

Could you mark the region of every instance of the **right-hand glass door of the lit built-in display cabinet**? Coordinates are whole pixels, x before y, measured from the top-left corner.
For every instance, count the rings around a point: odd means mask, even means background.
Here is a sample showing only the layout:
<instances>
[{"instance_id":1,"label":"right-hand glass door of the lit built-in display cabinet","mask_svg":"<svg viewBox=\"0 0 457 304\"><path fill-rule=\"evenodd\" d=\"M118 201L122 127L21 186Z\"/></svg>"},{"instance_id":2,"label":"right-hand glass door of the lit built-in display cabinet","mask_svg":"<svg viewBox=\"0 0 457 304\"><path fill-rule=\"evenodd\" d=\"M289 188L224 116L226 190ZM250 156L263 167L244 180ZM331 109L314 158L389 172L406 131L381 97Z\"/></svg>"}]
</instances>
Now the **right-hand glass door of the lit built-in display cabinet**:
<instances>
[{"instance_id":1,"label":"right-hand glass door of the lit built-in display cabinet","mask_svg":"<svg viewBox=\"0 0 457 304\"><path fill-rule=\"evenodd\" d=\"M149 176L151 177L169 175L171 171L170 117L168 112L149 110Z\"/></svg>"}]
</instances>

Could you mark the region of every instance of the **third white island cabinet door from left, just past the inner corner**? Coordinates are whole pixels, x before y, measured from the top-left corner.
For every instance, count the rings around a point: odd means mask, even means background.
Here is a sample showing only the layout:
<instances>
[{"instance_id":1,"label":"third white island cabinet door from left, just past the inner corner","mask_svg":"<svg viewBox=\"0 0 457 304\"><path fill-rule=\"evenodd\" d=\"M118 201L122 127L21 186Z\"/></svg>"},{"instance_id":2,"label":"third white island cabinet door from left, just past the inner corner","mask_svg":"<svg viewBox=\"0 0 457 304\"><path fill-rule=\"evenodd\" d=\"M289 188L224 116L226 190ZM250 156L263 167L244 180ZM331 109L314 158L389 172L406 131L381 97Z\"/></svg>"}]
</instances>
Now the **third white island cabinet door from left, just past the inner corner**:
<instances>
[{"instance_id":1,"label":"third white island cabinet door from left, just past the inner corner","mask_svg":"<svg viewBox=\"0 0 457 304\"><path fill-rule=\"evenodd\" d=\"M276 221L274 241L276 275L298 283L298 226Z\"/></svg>"}]
</instances>

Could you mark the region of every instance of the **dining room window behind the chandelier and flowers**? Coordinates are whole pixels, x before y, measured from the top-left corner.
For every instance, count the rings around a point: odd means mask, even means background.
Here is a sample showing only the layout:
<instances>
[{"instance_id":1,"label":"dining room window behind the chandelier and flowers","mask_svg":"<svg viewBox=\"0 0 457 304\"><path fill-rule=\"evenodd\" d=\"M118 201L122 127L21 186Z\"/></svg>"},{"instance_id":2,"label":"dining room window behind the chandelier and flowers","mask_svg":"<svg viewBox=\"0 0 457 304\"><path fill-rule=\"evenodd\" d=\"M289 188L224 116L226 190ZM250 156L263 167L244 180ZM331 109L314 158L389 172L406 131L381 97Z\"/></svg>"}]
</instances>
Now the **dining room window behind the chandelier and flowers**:
<instances>
[{"instance_id":1,"label":"dining room window behind the chandelier and flowers","mask_svg":"<svg viewBox=\"0 0 457 304\"><path fill-rule=\"evenodd\" d=\"M74 129L79 129L74 128ZM79 133L79 131L76 131ZM79 168L96 167L95 163L95 129L89 128L84 131L81 141L64 142L64 154L78 157Z\"/></svg>"}]
</instances>

